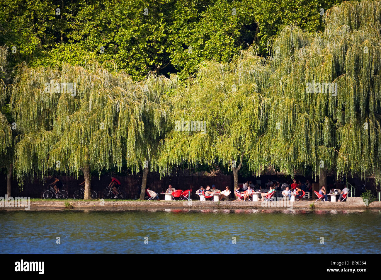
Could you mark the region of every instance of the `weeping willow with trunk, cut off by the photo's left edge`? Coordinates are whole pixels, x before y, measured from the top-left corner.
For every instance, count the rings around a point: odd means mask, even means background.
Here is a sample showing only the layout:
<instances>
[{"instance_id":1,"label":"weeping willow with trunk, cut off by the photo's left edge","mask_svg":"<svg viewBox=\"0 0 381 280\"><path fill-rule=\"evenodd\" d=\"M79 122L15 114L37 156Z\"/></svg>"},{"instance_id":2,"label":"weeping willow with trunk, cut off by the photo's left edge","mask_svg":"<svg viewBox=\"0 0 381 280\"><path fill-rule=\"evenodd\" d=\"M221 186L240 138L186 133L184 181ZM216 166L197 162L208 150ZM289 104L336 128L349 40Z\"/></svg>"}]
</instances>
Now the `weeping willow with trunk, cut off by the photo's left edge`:
<instances>
[{"instance_id":1,"label":"weeping willow with trunk, cut off by the photo's left edge","mask_svg":"<svg viewBox=\"0 0 381 280\"><path fill-rule=\"evenodd\" d=\"M6 193L11 196L11 176L12 176L12 150L13 134L11 124L8 121L4 111L6 102L6 87L3 81L5 78L7 50L0 46L0 166L5 166L7 170Z\"/></svg>"}]
</instances>

